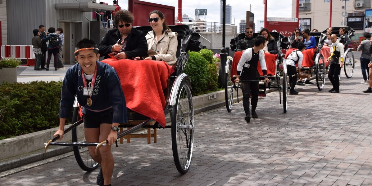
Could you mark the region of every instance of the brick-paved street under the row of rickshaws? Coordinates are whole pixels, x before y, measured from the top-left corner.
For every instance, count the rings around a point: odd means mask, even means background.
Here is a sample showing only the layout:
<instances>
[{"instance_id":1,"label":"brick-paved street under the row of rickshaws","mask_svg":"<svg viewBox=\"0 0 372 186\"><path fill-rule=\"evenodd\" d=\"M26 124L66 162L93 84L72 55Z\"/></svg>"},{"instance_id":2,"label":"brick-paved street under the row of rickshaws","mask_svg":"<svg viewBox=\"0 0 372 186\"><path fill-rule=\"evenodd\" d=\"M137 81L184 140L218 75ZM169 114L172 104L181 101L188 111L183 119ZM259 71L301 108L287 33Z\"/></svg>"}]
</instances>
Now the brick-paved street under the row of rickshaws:
<instances>
[{"instance_id":1,"label":"brick-paved street under the row of rickshaws","mask_svg":"<svg viewBox=\"0 0 372 186\"><path fill-rule=\"evenodd\" d=\"M359 63L358 63L359 65ZM360 67L340 94L297 86L283 114L278 92L259 100L259 118L244 121L241 102L195 118L195 143L189 172L173 163L170 129L158 130L158 143L132 139L113 147L112 183L121 185L372 185L372 94ZM327 79L328 80L328 79ZM315 82L315 80L313 81ZM0 179L2 186L94 186L99 170L82 171L73 156ZM49 175L49 176L47 176Z\"/></svg>"}]
</instances>

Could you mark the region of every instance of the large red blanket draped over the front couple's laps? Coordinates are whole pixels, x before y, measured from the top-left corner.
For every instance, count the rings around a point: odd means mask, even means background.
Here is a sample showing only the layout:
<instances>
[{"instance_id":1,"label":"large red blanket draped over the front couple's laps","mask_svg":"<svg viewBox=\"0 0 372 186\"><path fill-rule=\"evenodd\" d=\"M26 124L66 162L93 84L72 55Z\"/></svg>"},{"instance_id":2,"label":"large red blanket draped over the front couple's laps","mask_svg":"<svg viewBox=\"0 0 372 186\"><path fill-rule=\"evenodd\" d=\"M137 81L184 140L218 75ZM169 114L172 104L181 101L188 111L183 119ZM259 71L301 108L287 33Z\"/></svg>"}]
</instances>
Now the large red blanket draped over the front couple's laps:
<instances>
[{"instance_id":1,"label":"large red blanket draped over the front couple's laps","mask_svg":"<svg viewBox=\"0 0 372 186\"><path fill-rule=\"evenodd\" d=\"M171 66L163 61L105 59L115 68L124 92L126 107L166 125L163 89L171 74Z\"/></svg>"}]
</instances>

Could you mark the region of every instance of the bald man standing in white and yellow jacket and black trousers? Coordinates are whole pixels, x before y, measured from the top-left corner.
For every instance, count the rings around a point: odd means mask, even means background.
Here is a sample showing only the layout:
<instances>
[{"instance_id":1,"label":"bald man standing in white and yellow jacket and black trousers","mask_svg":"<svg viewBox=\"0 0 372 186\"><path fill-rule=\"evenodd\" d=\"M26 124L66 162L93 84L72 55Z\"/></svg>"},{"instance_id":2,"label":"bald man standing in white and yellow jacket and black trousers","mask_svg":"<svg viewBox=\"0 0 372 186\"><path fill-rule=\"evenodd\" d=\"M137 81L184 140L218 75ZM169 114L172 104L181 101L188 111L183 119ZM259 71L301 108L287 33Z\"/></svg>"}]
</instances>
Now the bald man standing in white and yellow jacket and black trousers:
<instances>
[{"instance_id":1,"label":"bald man standing in white and yellow jacket and black trousers","mask_svg":"<svg viewBox=\"0 0 372 186\"><path fill-rule=\"evenodd\" d=\"M328 79L332 83L333 88L328 92L339 93L340 92L340 71L344 65L344 45L337 40L337 36L331 35L332 45L330 46L330 56L327 61L330 61L330 68L328 71Z\"/></svg>"}]
</instances>

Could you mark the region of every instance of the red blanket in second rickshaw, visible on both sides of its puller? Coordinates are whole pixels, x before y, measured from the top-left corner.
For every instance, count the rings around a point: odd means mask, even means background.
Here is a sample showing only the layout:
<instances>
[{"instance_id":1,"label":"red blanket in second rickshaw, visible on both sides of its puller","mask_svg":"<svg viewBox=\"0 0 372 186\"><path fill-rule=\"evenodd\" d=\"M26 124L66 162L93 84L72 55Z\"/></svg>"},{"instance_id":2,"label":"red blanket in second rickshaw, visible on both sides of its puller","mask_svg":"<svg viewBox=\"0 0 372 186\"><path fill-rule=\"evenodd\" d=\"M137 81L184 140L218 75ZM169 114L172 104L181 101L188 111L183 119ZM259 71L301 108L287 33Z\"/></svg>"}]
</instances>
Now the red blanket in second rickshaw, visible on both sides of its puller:
<instances>
[{"instance_id":1,"label":"red blanket in second rickshaw, visible on both sides of its puller","mask_svg":"<svg viewBox=\"0 0 372 186\"><path fill-rule=\"evenodd\" d=\"M231 66L231 79L233 80L233 75L236 75L236 68L238 66L239 60L241 58L241 54L243 52L235 52L234 58L232 59L232 66ZM267 69L267 75L272 76L275 75L276 72L276 64L275 60L278 58L278 55L275 54L270 54L270 53L265 53L265 61L266 61L266 69ZM262 69L261 69L261 64L258 63L257 70L261 76L262 74ZM234 81L232 81L234 82Z\"/></svg>"}]
</instances>

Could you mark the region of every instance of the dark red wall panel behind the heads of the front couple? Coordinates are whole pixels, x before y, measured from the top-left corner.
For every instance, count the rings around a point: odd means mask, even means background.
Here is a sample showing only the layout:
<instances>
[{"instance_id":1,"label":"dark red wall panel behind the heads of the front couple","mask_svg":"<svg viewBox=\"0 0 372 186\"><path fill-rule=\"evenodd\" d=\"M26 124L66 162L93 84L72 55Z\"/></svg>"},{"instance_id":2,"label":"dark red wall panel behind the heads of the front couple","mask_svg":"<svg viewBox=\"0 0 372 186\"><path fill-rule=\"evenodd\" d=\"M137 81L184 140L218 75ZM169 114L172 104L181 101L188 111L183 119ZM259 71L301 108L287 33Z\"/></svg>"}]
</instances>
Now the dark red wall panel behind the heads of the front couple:
<instances>
[{"instance_id":1,"label":"dark red wall panel behind the heads of the front couple","mask_svg":"<svg viewBox=\"0 0 372 186\"><path fill-rule=\"evenodd\" d=\"M149 3L139 0L128 0L128 9L134 15L133 26L148 26L148 14L151 10L163 12L168 25L174 25L176 9L174 6Z\"/></svg>"}]
</instances>

